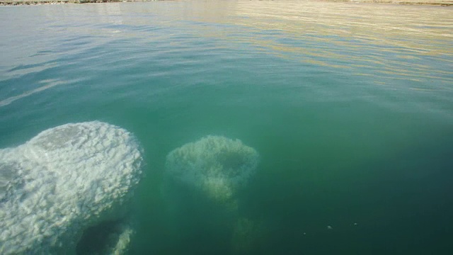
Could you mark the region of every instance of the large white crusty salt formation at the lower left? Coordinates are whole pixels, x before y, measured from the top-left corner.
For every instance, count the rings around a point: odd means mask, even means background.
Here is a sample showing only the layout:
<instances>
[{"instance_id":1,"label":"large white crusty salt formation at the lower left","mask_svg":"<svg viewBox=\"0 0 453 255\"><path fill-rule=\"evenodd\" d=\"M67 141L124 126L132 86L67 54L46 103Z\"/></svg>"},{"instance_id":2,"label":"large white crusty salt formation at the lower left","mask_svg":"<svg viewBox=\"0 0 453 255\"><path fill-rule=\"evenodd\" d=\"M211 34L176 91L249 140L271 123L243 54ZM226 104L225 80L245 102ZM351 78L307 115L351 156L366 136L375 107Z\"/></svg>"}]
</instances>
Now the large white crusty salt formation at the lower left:
<instances>
[{"instance_id":1,"label":"large white crusty salt formation at the lower left","mask_svg":"<svg viewBox=\"0 0 453 255\"><path fill-rule=\"evenodd\" d=\"M141 166L134 136L98 121L0 149L0 254L74 254L84 230L124 215Z\"/></svg>"}]
</instances>

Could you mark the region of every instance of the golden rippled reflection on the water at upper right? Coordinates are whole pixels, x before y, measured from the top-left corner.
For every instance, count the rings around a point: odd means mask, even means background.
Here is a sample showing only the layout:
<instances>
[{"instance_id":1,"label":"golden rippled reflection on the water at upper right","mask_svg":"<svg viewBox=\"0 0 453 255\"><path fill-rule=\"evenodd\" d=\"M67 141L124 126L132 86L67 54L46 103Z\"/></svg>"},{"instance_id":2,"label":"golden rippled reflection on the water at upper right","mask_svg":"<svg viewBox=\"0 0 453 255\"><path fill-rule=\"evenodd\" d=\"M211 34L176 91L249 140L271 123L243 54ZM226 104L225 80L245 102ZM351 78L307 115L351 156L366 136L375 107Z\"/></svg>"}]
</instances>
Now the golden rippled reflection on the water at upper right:
<instances>
[{"instance_id":1,"label":"golden rippled reflection on the water at upper right","mask_svg":"<svg viewBox=\"0 0 453 255\"><path fill-rule=\"evenodd\" d=\"M449 8L241 1L236 12L253 17L253 23L243 19L242 25L282 35L273 41L257 38L256 43L289 52L292 57L297 55L317 64L355 68L359 73L369 67L383 76L399 74L414 79L449 74L448 81L452 81L449 67L453 64L453 52L445 47L451 44L453 37L453 11ZM303 45L297 43L301 41ZM389 55L392 55L391 60ZM427 56L439 57L445 64L432 73L428 71L429 65L420 61ZM344 64L333 64L328 60L331 58ZM405 62L410 66L403 66Z\"/></svg>"}]
</instances>

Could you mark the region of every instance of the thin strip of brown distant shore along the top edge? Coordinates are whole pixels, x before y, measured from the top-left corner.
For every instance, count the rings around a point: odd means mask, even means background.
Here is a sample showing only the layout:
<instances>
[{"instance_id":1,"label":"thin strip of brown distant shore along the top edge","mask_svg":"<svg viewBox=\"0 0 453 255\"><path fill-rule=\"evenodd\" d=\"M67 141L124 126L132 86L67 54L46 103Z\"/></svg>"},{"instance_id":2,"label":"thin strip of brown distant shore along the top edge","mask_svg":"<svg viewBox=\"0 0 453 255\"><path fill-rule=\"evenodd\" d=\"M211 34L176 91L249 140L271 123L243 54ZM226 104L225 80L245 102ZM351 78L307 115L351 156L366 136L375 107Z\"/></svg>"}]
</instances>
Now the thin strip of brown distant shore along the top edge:
<instances>
[{"instance_id":1,"label":"thin strip of brown distant shore along the top edge","mask_svg":"<svg viewBox=\"0 0 453 255\"><path fill-rule=\"evenodd\" d=\"M133 1L159 1L159 0L0 0L0 6L39 5L39 4L89 4L89 3L133 2ZM318 1L453 6L453 0L318 0Z\"/></svg>"}]
</instances>

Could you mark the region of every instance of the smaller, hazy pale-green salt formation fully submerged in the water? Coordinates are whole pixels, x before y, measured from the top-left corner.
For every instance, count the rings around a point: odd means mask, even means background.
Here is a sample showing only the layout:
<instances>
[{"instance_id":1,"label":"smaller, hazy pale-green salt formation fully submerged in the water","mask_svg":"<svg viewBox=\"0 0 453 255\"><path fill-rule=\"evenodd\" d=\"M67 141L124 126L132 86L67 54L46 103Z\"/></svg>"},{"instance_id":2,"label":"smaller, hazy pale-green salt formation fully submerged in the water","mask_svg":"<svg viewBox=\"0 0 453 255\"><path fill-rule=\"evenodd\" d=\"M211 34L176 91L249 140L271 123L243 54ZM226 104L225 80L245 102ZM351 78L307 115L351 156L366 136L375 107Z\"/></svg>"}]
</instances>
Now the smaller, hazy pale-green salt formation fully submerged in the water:
<instances>
[{"instance_id":1,"label":"smaller, hazy pale-green salt formation fully submerged in the water","mask_svg":"<svg viewBox=\"0 0 453 255\"><path fill-rule=\"evenodd\" d=\"M207 136L170 152L166 174L217 201L234 198L258 164L258 152L240 140Z\"/></svg>"}]
</instances>

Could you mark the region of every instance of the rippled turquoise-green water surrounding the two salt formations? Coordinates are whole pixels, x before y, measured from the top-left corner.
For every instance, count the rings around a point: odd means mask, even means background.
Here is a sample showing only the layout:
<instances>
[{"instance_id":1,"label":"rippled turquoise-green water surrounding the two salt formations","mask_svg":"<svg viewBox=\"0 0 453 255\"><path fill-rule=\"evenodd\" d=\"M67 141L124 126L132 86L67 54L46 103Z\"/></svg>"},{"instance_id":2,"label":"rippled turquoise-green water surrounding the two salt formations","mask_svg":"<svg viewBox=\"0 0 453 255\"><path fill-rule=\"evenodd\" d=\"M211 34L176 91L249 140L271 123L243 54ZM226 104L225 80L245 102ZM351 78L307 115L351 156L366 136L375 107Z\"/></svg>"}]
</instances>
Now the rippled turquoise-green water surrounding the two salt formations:
<instances>
[{"instance_id":1,"label":"rippled turquoise-green water surrounding the two salt formations","mask_svg":"<svg viewBox=\"0 0 453 255\"><path fill-rule=\"evenodd\" d=\"M91 120L142 144L130 254L453 249L452 8L14 6L0 31L1 148ZM206 135L260 154L235 216L245 234L203 203L168 215L166 155Z\"/></svg>"}]
</instances>

